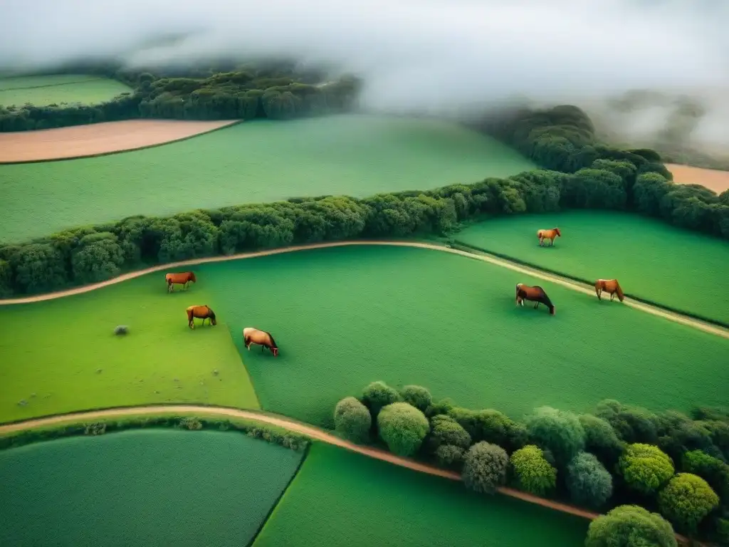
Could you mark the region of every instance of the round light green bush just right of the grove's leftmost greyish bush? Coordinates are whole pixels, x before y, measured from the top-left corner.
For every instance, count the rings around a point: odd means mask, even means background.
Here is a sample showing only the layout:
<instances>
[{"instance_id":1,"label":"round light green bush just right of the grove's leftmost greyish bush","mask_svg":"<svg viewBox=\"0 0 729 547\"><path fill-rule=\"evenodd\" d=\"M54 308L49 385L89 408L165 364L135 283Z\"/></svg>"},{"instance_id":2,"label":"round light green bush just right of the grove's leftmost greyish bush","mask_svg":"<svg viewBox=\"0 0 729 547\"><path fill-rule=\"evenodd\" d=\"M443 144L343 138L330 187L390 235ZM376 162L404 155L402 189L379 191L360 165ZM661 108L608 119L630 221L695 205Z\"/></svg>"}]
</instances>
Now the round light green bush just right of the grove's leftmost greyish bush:
<instances>
[{"instance_id":1,"label":"round light green bush just right of the grove's leftmost greyish bush","mask_svg":"<svg viewBox=\"0 0 729 547\"><path fill-rule=\"evenodd\" d=\"M430 429L425 415L408 403L385 406L377 416L377 424L382 440L399 456L415 454Z\"/></svg>"}]
</instances>

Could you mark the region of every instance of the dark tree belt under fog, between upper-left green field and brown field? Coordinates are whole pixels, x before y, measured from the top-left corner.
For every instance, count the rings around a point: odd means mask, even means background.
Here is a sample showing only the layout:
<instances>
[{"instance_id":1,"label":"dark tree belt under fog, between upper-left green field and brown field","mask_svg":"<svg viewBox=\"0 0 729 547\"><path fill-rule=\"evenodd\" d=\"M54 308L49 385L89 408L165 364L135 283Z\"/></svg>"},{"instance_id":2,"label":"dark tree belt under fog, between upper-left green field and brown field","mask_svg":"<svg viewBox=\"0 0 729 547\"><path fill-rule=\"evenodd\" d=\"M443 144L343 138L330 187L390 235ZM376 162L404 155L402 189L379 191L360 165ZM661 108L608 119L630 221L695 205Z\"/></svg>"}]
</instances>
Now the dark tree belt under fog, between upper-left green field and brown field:
<instances>
[{"instance_id":1,"label":"dark tree belt under fog, between upper-left green field and brown field","mask_svg":"<svg viewBox=\"0 0 729 547\"><path fill-rule=\"evenodd\" d=\"M85 67L87 72L120 80L132 91L93 105L0 105L0 131L31 131L139 117L286 120L350 109L361 87L359 79L354 77L324 82L316 79L321 74L280 64L228 68L229 71L156 69L152 72Z\"/></svg>"}]
</instances>

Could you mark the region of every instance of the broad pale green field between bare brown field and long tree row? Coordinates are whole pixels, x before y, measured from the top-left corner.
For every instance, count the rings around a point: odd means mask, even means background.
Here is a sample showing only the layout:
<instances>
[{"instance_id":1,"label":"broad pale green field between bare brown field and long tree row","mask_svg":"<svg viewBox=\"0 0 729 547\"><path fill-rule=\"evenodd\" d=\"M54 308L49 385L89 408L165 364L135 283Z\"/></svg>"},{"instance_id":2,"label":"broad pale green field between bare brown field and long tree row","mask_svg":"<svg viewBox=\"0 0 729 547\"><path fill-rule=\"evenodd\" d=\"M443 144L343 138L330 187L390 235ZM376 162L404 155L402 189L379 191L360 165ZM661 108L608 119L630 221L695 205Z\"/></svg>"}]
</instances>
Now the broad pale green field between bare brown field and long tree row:
<instances>
[{"instance_id":1,"label":"broad pale green field between bare brown field and long tree row","mask_svg":"<svg viewBox=\"0 0 729 547\"><path fill-rule=\"evenodd\" d=\"M132 214L322 194L362 197L531 168L498 141L440 121L257 120L148 150L0 166L0 241Z\"/></svg>"}]
</instances>

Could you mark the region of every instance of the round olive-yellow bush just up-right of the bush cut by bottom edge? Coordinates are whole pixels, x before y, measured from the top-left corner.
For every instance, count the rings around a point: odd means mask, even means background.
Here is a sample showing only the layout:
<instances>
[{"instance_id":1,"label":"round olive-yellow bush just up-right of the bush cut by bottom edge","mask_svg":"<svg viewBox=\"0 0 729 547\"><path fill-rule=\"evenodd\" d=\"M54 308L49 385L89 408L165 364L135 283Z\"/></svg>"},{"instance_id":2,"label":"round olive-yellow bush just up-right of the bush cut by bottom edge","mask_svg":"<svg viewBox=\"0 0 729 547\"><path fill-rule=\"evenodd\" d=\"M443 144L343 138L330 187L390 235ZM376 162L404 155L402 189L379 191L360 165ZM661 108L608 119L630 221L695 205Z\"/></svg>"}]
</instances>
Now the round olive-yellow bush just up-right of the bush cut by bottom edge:
<instances>
[{"instance_id":1,"label":"round olive-yellow bush just up-right of the bush cut by bottom edge","mask_svg":"<svg viewBox=\"0 0 729 547\"><path fill-rule=\"evenodd\" d=\"M701 520L719 505L719 496L703 478L679 473L658 495L658 506L679 529L695 532Z\"/></svg>"}]
</instances>

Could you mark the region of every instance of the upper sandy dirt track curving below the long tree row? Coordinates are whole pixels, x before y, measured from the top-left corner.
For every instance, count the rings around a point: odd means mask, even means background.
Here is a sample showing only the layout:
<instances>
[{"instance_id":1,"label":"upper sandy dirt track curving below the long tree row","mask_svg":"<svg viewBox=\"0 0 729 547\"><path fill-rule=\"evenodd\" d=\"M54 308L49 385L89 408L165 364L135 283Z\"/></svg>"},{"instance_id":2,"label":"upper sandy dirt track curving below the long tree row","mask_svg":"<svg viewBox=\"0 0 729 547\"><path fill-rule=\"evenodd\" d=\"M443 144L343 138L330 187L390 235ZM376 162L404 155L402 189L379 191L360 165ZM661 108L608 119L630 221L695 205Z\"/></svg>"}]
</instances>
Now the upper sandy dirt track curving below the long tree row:
<instances>
[{"instance_id":1,"label":"upper sandy dirt track curving below the long tree row","mask_svg":"<svg viewBox=\"0 0 729 547\"><path fill-rule=\"evenodd\" d=\"M268 255L280 255L281 253L284 253L284 252L304 251L304 250L308 250L308 249L324 249L324 248L328 248L328 247L346 247L349 245L385 245L385 246L392 246L392 247L416 247L419 249L432 249L434 251L450 252L453 255L461 255L461 256L472 258L475 260L483 260L483 262L488 262L488 263L491 263L494 265L501 266L502 268L507 268L512 271L517 271L520 274L537 277L539 279L543 279L544 281L547 281L550 283L559 284L562 287L566 287L568 289L571 289L571 290L574 290L577 292L582 292L582 294L584 294L584 295L590 295L590 296L594 295L593 287L588 287L588 285L580 284L580 283L574 282L570 279L566 279L564 277L557 276L555 274L547 274L547 272L538 270L537 268L529 268L527 266L512 263L509 260L504 260L502 258L495 257L494 255L489 255L486 252L467 252L467 251L461 251L459 249L451 249L450 247L445 247L444 245L438 245L438 244L433 244L433 243L424 243L424 242L420 242L420 241L377 241L377 240L372 240L372 241L333 241L330 243L295 245L292 247L281 247L280 249L269 249L269 250L257 251L257 252L245 252L245 253L239 253L238 255L205 257L205 258L195 258L192 260L182 260L180 262L160 264L160 265L152 266L152 268L146 268L144 270L133 271L128 274L123 274L121 276L115 277L114 279L109 279L108 281L85 285L84 287L77 287L75 289L63 290L63 291L58 291L58 292L48 292L44 295L26 296L23 298L7 298L5 300L0 300L0 306L8 306L11 304L25 304L25 303L33 303L33 302L42 302L44 300L54 300L55 298L63 298L66 296L79 295L84 292L90 292L92 290L101 289L102 287L108 287L109 285L128 281L129 279L135 279L136 277L141 277L141 276L144 276L147 274L152 274L155 271L171 271L176 268L182 268L184 266L190 266L190 265L206 264L206 263L214 263L214 262L225 262L227 260L243 260L246 258L264 257L264 256L268 256ZM693 319L691 317L687 317L682 314L677 314L672 311L666 311L664 309L658 308L657 306L650 306L649 304L638 302L636 300L631 300L631 298L627 298L627 297L625 298L625 300L623 300L623 304L625 304L625 306L631 306L631 308L637 309L639 311L644 311L648 314L653 314L658 317L663 317L664 319L668 319L669 321L681 323L682 325L686 325L687 327L693 327L698 330L703 330L706 333L714 334L717 336L722 336L723 338L729 338L729 329L718 327L716 325L710 325L709 323L699 321L698 319Z\"/></svg>"}]
</instances>

